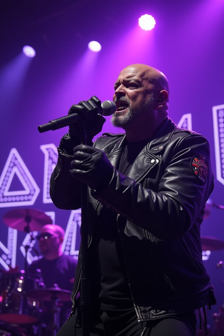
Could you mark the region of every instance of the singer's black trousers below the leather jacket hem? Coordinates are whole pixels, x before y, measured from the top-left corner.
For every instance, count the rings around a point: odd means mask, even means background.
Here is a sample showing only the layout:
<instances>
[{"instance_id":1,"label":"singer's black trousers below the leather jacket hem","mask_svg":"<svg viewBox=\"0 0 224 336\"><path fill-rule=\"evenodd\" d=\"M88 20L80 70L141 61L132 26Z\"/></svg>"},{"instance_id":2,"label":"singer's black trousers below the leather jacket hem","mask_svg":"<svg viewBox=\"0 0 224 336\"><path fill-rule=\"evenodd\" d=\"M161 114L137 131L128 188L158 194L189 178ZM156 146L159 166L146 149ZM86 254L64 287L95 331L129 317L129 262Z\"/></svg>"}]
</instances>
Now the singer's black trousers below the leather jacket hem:
<instances>
[{"instance_id":1,"label":"singer's black trousers below the leather jacket hem","mask_svg":"<svg viewBox=\"0 0 224 336\"><path fill-rule=\"evenodd\" d=\"M56 336L82 336L80 312L66 321ZM153 322L138 323L136 312L103 311L89 316L89 336L195 336L194 311Z\"/></svg>"}]
</instances>

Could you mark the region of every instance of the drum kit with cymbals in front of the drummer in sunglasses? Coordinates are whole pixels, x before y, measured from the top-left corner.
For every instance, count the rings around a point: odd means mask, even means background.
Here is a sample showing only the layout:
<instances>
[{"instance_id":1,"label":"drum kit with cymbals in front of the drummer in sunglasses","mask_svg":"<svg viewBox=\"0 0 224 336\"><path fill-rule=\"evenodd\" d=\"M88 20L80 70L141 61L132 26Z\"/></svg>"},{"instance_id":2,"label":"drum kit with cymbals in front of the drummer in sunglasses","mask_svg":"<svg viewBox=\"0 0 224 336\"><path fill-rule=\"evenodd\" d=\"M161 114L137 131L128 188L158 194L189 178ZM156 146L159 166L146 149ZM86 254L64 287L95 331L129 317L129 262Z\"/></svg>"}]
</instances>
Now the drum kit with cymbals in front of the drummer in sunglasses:
<instances>
[{"instance_id":1,"label":"drum kit with cymbals in front of the drummer in sunglasses","mask_svg":"<svg viewBox=\"0 0 224 336\"><path fill-rule=\"evenodd\" d=\"M52 220L40 210L15 209L3 217L4 223L14 229L31 235ZM71 301L71 292L57 287L45 288L41 271L29 274L27 271L26 245L25 270L17 268L4 271L0 276L0 336L54 336L59 329L60 302ZM43 329L42 307L51 302L51 322Z\"/></svg>"}]
</instances>

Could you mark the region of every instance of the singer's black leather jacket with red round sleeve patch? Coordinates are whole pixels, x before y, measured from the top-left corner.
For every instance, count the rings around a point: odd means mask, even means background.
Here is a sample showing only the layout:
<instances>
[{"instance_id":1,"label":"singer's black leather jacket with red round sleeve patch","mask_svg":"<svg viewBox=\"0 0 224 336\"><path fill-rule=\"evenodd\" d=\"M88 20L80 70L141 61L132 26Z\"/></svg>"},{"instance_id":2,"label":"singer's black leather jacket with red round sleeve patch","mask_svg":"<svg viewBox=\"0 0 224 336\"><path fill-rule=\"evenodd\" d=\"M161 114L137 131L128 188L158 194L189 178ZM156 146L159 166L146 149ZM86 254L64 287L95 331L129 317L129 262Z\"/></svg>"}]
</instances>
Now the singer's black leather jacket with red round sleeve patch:
<instances>
[{"instance_id":1,"label":"singer's black leather jacket with red round sleeve patch","mask_svg":"<svg viewBox=\"0 0 224 336\"><path fill-rule=\"evenodd\" d=\"M88 190L89 244L102 205L118 213L129 287L138 321L187 312L216 303L202 262L200 224L211 194L213 173L207 139L180 129L167 118L153 140L139 153L129 176L116 168L126 145L124 134L99 137L115 167L102 190ZM73 148L65 135L51 177L56 207L81 207L80 182L70 176ZM206 159L206 160L205 160ZM81 249L72 291L73 309L81 278Z\"/></svg>"}]
</instances>

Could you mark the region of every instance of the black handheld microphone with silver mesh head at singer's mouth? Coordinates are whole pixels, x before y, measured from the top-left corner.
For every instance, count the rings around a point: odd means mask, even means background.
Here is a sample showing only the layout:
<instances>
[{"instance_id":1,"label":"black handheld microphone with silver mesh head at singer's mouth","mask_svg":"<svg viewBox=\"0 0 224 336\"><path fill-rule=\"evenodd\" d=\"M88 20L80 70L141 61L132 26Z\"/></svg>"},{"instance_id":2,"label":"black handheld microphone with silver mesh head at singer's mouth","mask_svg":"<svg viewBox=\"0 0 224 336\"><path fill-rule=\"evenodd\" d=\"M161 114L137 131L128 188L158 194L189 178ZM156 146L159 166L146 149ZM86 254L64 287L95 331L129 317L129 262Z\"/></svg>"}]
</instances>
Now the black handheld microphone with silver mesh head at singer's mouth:
<instances>
[{"instance_id":1,"label":"black handheld microphone with silver mesh head at singer's mouth","mask_svg":"<svg viewBox=\"0 0 224 336\"><path fill-rule=\"evenodd\" d=\"M110 101L110 100L103 101L102 104L101 104L101 108L102 108L102 110L99 111L99 113L102 116L111 116L112 114L114 114L117 111L117 106L116 106L115 102ZM75 107L75 110L77 110L77 112L81 111L82 109L85 109L85 108L81 105L77 105ZM82 118L83 117L81 115L79 115L78 113L72 113L72 114L69 114L65 117L61 117L61 118L51 120L47 124L43 124L43 125L38 126L38 131L40 133L50 131L50 130L54 131L55 129L59 129L59 128L62 128L62 127L65 127L65 126L69 126L70 124L75 123Z\"/></svg>"}]
</instances>

